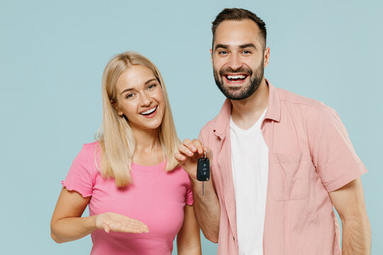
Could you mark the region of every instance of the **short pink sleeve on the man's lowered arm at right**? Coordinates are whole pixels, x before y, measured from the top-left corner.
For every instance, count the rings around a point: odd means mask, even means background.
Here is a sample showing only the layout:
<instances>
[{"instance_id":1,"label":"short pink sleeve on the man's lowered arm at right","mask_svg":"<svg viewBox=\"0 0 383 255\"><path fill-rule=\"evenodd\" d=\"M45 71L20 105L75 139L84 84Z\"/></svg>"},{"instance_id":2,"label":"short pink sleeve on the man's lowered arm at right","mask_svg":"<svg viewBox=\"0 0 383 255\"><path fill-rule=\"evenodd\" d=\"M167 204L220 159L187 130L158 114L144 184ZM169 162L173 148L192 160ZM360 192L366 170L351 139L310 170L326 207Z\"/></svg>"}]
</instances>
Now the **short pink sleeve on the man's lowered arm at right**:
<instances>
[{"instance_id":1,"label":"short pink sleeve on the man's lowered arm at right","mask_svg":"<svg viewBox=\"0 0 383 255\"><path fill-rule=\"evenodd\" d=\"M367 172L357 157L345 126L332 108L321 109L313 139L313 164L328 192Z\"/></svg>"}]
</instances>

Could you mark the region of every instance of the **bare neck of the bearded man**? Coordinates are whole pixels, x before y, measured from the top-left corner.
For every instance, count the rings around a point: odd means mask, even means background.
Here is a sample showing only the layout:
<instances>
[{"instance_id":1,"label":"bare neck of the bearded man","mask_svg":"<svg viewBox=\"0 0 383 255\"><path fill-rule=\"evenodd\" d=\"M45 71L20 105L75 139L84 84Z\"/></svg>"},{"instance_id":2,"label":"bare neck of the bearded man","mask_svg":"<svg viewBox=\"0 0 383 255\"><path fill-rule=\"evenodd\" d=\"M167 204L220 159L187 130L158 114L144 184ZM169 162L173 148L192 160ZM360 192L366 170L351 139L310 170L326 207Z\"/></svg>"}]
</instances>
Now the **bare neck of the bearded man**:
<instances>
[{"instance_id":1,"label":"bare neck of the bearded man","mask_svg":"<svg viewBox=\"0 0 383 255\"><path fill-rule=\"evenodd\" d=\"M262 79L258 89L248 98L231 100L231 118L239 128L247 130L260 118L269 103L269 86Z\"/></svg>"}]
</instances>

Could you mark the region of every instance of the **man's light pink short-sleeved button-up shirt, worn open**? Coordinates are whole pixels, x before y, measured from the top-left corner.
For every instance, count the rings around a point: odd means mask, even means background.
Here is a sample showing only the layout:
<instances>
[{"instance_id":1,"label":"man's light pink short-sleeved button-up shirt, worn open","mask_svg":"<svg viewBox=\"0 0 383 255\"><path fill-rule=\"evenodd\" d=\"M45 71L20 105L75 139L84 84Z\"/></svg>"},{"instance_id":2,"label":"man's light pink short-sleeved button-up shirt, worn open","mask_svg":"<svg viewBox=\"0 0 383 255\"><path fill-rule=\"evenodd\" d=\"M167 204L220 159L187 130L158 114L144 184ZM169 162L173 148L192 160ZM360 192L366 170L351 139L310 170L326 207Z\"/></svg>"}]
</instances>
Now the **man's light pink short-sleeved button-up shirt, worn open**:
<instances>
[{"instance_id":1,"label":"man's light pink short-sleeved button-up shirt, worn open","mask_svg":"<svg viewBox=\"0 0 383 255\"><path fill-rule=\"evenodd\" d=\"M333 109L268 84L269 105L261 125L269 147L264 254L340 255L339 227L328 193L367 169ZM226 100L202 128L200 139L214 153L211 175L221 204L218 254L234 255L238 242L230 115L231 102Z\"/></svg>"}]
</instances>

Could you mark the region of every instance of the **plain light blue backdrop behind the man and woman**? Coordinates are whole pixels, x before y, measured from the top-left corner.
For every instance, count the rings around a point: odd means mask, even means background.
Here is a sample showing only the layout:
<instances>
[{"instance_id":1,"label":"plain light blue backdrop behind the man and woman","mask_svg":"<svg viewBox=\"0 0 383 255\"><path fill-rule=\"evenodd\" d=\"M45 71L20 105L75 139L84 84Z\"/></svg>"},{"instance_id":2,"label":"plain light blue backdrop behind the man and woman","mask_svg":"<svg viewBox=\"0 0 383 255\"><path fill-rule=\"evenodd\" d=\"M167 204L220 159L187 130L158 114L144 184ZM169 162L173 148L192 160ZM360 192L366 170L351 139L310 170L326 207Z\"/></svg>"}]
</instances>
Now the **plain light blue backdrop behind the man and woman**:
<instances>
[{"instance_id":1,"label":"plain light blue backdrop behind the man and woman","mask_svg":"<svg viewBox=\"0 0 383 255\"><path fill-rule=\"evenodd\" d=\"M0 254L89 254L90 237L55 244L49 224L60 181L101 124L112 55L134 50L155 62L179 137L198 135L224 99L209 48L211 21L225 7L266 22L267 79L338 111L370 171L362 181L372 250L383 253L382 1L1 0Z\"/></svg>"}]
</instances>

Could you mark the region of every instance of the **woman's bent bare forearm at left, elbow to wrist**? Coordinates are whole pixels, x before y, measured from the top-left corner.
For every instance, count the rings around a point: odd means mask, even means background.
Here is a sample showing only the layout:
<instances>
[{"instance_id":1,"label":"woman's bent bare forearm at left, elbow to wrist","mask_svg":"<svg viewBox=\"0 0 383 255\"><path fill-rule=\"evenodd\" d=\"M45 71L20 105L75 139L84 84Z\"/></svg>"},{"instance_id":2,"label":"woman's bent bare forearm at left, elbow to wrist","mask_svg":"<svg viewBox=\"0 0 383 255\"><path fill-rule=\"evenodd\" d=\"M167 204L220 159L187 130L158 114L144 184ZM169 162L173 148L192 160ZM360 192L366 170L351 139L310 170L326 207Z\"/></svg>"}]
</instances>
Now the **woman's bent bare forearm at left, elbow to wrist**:
<instances>
[{"instance_id":1,"label":"woman's bent bare forearm at left, elbow to wrist","mask_svg":"<svg viewBox=\"0 0 383 255\"><path fill-rule=\"evenodd\" d=\"M85 237L96 229L96 216L67 217L51 222L50 235L61 244Z\"/></svg>"}]
</instances>

